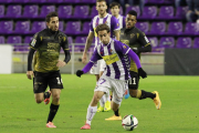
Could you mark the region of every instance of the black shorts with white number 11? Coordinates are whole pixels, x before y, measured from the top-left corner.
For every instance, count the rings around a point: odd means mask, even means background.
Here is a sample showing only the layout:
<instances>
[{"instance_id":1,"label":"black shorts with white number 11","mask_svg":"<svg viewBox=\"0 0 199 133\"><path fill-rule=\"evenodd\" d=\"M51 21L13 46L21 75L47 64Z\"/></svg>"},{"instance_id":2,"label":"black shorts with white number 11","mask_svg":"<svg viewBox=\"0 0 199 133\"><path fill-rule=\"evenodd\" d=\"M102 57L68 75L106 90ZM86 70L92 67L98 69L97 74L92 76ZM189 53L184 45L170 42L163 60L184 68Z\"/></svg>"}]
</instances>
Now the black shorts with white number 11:
<instances>
[{"instance_id":1,"label":"black shorts with white number 11","mask_svg":"<svg viewBox=\"0 0 199 133\"><path fill-rule=\"evenodd\" d=\"M137 90L139 84L139 76L137 72L129 71L130 79L128 80L128 89Z\"/></svg>"}]
</instances>

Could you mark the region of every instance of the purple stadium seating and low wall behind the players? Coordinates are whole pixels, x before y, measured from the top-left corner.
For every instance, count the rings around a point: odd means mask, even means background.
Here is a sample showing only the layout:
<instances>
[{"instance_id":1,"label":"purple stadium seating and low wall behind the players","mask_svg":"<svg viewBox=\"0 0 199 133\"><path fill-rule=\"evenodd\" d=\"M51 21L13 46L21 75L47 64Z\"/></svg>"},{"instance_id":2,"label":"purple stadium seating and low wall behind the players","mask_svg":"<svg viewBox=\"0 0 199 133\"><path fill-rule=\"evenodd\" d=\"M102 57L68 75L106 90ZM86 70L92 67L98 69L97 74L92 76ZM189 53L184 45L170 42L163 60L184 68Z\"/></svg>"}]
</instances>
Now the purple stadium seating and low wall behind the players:
<instances>
[{"instance_id":1,"label":"purple stadium seating and low wall behind the players","mask_svg":"<svg viewBox=\"0 0 199 133\"><path fill-rule=\"evenodd\" d=\"M81 69L81 55L90 31L91 19L97 14L95 0L0 0L0 44L13 45L12 72L27 71L27 53L33 34L44 29L45 16L57 11L60 30L69 37L72 60L62 69L64 73L74 73ZM196 68L188 66L199 48L199 24L188 22L188 6L175 6L175 0L145 0L143 12L138 4L122 7L121 14L129 10L138 12L136 24L146 33L153 45L151 53L142 57L143 66L148 74L198 74ZM109 10L108 10L109 12ZM72 49L74 45L74 49ZM168 50L166 49L171 49ZM181 49L176 52L176 49ZM191 49L191 50L190 50ZM195 49L196 52L191 52ZM179 54L177 57L176 54ZM188 53L187 57L184 53ZM92 54L92 49L90 55ZM171 55L172 60L168 61ZM193 55L192 55L193 54ZM2 54L0 54L2 58ZM63 58L61 55L61 58ZM196 59L196 58L195 58ZM174 62L184 62L179 68ZM176 70L175 72L170 70Z\"/></svg>"}]
</instances>

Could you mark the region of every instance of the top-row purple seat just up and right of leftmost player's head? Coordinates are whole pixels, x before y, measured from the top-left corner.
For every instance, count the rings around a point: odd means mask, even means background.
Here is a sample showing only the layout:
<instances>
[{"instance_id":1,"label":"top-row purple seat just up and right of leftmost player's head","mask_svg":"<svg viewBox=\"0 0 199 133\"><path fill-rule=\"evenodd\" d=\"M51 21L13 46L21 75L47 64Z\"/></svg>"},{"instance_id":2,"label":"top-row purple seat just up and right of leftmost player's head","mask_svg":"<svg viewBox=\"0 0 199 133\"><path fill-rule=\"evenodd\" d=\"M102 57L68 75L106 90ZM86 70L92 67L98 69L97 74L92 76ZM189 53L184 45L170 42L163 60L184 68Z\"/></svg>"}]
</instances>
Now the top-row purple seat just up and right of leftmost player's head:
<instances>
[{"instance_id":1,"label":"top-row purple seat just up and right of leftmost player's head","mask_svg":"<svg viewBox=\"0 0 199 133\"><path fill-rule=\"evenodd\" d=\"M72 6L59 6L57 13L59 13L59 18L61 18L61 19L72 18L73 7Z\"/></svg>"}]
</instances>

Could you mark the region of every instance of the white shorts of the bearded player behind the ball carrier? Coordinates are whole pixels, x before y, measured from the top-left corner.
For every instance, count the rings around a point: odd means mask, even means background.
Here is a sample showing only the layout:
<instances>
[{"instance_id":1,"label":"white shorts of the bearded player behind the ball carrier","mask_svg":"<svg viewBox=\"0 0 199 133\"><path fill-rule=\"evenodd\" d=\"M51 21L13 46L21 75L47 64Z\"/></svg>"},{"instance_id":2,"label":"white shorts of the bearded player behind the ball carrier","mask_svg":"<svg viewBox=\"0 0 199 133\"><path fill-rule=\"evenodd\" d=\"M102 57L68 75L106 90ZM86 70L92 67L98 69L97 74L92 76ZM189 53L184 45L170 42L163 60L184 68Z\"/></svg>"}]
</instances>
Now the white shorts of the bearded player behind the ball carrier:
<instances>
[{"instance_id":1,"label":"white shorts of the bearded player behind the ball carrier","mask_svg":"<svg viewBox=\"0 0 199 133\"><path fill-rule=\"evenodd\" d=\"M102 59L94 63L90 72L91 74L100 74L100 72L104 71L105 68L106 68L106 63L104 59Z\"/></svg>"}]
</instances>

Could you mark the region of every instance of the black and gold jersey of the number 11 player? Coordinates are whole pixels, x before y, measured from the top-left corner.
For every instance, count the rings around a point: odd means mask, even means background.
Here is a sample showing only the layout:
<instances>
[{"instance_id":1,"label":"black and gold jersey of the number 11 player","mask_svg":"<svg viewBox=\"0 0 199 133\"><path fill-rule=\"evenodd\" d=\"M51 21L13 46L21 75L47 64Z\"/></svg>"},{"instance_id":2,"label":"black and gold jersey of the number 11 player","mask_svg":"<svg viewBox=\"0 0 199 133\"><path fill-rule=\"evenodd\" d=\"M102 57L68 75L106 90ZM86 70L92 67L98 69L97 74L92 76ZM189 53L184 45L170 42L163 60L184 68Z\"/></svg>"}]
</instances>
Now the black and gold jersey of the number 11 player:
<instances>
[{"instance_id":1,"label":"black and gold jersey of the number 11 player","mask_svg":"<svg viewBox=\"0 0 199 133\"><path fill-rule=\"evenodd\" d=\"M136 27L132 29L122 29L121 30L121 42L127 44L129 48L143 48L149 45L149 41L146 38L145 33L142 32ZM140 53L138 53L140 58ZM130 60L130 71L137 72L137 66L133 60Z\"/></svg>"}]
</instances>

